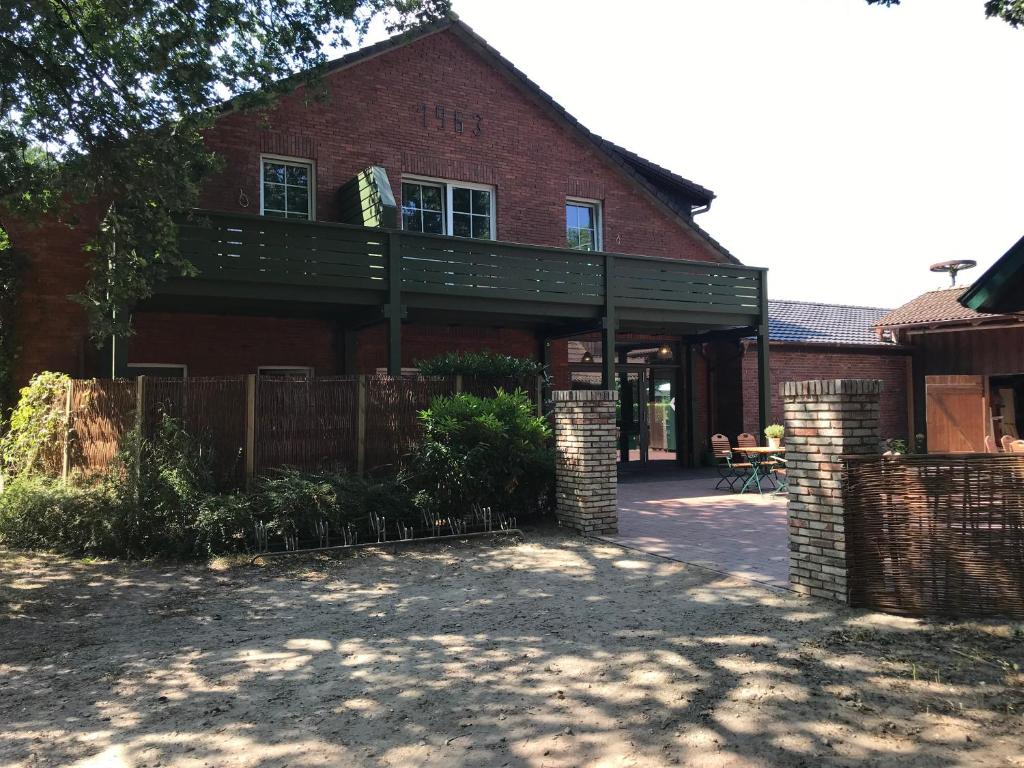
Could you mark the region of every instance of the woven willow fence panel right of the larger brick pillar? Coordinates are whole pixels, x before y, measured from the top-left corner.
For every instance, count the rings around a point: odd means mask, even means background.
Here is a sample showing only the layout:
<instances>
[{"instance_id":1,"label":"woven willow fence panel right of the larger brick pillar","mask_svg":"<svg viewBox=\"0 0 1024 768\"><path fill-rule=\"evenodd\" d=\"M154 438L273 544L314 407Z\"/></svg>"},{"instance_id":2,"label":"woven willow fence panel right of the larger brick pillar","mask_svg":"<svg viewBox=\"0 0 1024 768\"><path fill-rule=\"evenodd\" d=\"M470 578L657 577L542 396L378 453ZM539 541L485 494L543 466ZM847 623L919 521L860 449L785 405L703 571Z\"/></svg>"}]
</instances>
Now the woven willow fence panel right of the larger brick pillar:
<instances>
[{"instance_id":1,"label":"woven willow fence panel right of the larger brick pillar","mask_svg":"<svg viewBox=\"0 0 1024 768\"><path fill-rule=\"evenodd\" d=\"M851 604L1024 617L1024 456L850 459Z\"/></svg>"}]
</instances>

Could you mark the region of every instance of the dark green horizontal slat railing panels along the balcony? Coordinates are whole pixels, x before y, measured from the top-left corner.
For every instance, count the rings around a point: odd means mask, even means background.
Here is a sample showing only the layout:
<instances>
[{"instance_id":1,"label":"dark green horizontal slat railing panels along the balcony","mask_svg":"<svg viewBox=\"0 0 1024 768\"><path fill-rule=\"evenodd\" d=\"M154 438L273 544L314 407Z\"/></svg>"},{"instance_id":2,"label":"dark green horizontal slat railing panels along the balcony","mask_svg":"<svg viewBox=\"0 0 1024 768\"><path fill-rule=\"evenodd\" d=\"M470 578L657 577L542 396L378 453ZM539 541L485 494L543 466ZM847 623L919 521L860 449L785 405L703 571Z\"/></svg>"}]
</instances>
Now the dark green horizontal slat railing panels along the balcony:
<instances>
[{"instance_id":1,"label":"dark green horizontal slat railing panels along the balcony","mask_svg":"<svg viewBox=\"0 0 1024 768\"><path fill-rule=\"evenodd\" d=\"M392 238L402 293L752 317L763 299L763 270L732 264L212 212L180 228L181 253L200 280L378 292L389 287Z\"/></svg>"}]
</instances>

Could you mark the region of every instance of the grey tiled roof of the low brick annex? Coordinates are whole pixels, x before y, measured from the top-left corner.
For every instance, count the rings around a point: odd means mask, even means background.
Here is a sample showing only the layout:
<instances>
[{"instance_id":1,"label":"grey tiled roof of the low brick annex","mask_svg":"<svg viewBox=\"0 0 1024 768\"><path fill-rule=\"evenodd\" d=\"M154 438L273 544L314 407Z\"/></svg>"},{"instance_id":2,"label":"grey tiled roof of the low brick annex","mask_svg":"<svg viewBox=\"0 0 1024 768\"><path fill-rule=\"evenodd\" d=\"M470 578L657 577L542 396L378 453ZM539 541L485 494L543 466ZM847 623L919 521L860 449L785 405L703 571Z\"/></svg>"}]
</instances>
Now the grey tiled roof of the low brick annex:
<instances>
[{"instance_id":1,"label":"grey tiled roof of the low brick annex","mask_svg":"<svg viewBox=\"0 0 1024 768\"><path fill-rule=\"evenodd\" d=\"M791 344L892 346L872 330L888 309L811 301L768 301L768 338Z\"/></svg>"}]
</instances>

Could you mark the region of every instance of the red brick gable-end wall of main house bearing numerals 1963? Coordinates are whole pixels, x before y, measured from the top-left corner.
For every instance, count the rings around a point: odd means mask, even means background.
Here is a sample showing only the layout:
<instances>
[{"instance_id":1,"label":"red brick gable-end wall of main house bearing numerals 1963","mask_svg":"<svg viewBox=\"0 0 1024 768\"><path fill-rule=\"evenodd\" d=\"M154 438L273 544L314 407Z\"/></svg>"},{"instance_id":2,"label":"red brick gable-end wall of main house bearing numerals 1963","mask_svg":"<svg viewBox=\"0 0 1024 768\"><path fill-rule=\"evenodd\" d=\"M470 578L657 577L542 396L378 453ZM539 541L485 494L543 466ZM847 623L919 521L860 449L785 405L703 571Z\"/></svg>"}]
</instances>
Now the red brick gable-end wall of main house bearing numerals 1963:
<instances>
[{"instance_id":1,"label":"red brick gable-end wall of main house bearing numerals 1963","mask_svg":"<svg viewBox=\"0 0 1024 768\"><path fill-rule=\"evenodd\" d=\"M551 118L530 96L452 32L366 59L327 78L329 100L304 104L303 89L265 113L222 117L209 145L223 156L225 171L213 179L202 205L258 214L260 153L312 160L316 213L337 216L336 190L371 164L383 165L400 198L403 174L492 184L496 189L501 240L564 245L567 196L603 202L604 245L609 251L717 260L707 243L666 213L613 168L573 130ZM427 126L418 110L427 105ZM437 129L436 105L445 110ZM462 113L457 134L451 116ZM473 135L479 114L481 134ZM241 201L248 200L248 207ZM400 201L399 201L400 202ZM27 251L32 274L19 378L42 369L74 374L87 367L84 314L67 297L86 281L81 244L88 227L71 232L50 225L39 232L11 227L14 244ZM211 307L213 308L213 307ZM185 361L196 375L252 371L269 359L313 365L334 372L338 353L330 323L212 314L138 313L139 333L129 361ZM536 355L531 334L466 329L432 332L403 329L403 365L446 348L490 347ZM383 329L360 334L360 368L386 359ZM152 346L146 346L152 345ZM184 359L182 355L194 355ZM94 355L93 355L94 356ZM278 364L284 365L284 364Z\"/></svg>"}]
</instances>

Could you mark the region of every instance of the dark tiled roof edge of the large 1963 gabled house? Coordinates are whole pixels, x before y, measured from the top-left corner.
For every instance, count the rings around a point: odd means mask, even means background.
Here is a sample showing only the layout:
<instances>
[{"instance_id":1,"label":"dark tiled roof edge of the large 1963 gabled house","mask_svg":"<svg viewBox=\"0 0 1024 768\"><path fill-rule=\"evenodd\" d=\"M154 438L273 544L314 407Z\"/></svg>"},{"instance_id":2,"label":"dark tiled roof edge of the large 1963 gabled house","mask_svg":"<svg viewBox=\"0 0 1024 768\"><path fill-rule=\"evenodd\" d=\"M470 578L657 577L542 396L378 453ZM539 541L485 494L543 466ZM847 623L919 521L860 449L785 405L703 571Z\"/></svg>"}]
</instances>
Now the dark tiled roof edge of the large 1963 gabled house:
<instances>
[{"instance_id":1,"label":"dark tiled roof edge of the large 1963 gabled house","mask_svg":"<svg viewBox=\"0 0 1024 768\"><path fill-rule=\"evenodd\" d=\"M503 70L543 108L546 108L555 119L567 123L581 133L598 151L598 154L604 156L612 166L652 198L655 203L660 204L670 214L675 215L684 228L695 233L711 246L722 257L723 261L740 263L722 244L693 221L695 212L700 213L711 207L715 193L592 132L454 12L447 18L421 25L328 61L324 66L323 72L326 74L338 72L445 30L451 30L463 42ZM298 84L300 76L295 76L294 80Z\"/></svg>"}]
</instances>

